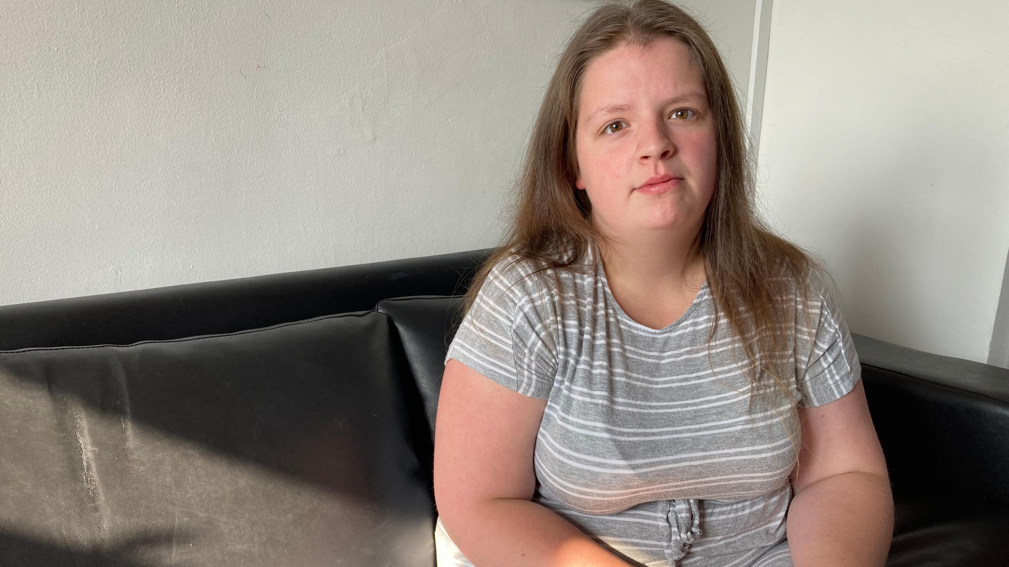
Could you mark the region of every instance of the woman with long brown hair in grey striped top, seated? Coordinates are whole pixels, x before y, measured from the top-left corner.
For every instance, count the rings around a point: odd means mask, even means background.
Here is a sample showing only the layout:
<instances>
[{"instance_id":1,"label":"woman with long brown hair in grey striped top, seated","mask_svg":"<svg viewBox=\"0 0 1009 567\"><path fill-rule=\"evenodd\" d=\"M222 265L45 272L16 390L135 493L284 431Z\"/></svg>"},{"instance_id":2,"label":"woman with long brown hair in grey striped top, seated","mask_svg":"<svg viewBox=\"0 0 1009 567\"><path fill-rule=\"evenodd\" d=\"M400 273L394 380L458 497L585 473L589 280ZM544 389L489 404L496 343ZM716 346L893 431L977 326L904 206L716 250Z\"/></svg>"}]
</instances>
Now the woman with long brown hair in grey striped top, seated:
<instances>
[{"instance_id":1,"label":"woman with long brown hair in grey striped top, seated","mask_svg":"<svg viewBox=\"0 0 1009 567\"><path fill-rule=\"evenodd\" d=\"M745 139L679 8L572 37L446 356L439 567L883 565L858 356L819 264L755 214Z\"/></svg>"}]
</instances>

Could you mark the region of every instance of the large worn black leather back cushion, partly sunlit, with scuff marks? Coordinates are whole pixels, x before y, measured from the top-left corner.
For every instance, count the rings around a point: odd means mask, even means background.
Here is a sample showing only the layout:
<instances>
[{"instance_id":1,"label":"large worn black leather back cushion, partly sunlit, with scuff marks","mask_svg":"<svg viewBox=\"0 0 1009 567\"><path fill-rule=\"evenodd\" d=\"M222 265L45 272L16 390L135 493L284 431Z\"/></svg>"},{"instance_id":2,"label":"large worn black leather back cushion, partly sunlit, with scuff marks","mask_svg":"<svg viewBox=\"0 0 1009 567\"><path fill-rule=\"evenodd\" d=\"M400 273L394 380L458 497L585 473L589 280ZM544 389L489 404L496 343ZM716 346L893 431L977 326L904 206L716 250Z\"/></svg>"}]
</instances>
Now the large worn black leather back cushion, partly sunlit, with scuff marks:
<instances>
[{"instance_id":1,"label":"large worn black leather back cushion, partly sunlit, with scuff marks","mask_svg":"<svg viewBox=\"0 0 1009 567\"><path fill-rule=\"evenodd\" d=\"M358 312L0 353L0 564L430 567L393 339Z\"/></svg>"}]
</instances>

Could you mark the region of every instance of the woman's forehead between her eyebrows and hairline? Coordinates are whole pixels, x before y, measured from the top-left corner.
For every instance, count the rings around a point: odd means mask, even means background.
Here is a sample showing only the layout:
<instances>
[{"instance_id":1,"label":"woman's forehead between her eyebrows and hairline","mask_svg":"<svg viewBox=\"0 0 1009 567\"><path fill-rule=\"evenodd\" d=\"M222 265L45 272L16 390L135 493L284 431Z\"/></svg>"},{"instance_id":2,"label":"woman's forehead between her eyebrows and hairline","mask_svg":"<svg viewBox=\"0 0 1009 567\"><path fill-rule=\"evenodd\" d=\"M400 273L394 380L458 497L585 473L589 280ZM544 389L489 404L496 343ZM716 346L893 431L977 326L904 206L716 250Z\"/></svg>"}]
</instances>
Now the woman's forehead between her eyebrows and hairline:
<instances>
[{"instance_id":1,"label":"woman's forehead between her eyebrows and hairline","mask_svg":"<svg viewBox=\"0 0 1009 567\"><path fill-rule=\"evenodd\" d=\"M606 105L636 105L691 91L703 93L704 78L684 43L663 37L644 47L624 44L586 67L578 97L578 119L584 121Z\"/></svg>"}]
</instances>

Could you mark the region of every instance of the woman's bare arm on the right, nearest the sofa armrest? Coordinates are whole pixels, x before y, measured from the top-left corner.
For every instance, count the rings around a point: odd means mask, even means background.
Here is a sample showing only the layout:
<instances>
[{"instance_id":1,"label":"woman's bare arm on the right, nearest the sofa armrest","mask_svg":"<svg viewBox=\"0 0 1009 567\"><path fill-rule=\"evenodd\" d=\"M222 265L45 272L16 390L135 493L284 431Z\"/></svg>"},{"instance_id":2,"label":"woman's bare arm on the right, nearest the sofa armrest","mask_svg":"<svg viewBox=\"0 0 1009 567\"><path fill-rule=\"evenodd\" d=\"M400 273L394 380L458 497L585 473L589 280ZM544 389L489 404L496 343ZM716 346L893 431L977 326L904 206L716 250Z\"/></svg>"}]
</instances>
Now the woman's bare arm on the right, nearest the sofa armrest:
<instances>
[{"instance_id":1,"label":"woman's bare arm on the right, nearest the sofa armrest","mask_svg":"<svg viewBox=\"0 0 1009 567\"><path fill-rule=\"evenodd\" d=\"M852 391L799 408L788 546L795 567L881 567L893 536L886 460L860 378Z\"/></svg>"}]
</instances>

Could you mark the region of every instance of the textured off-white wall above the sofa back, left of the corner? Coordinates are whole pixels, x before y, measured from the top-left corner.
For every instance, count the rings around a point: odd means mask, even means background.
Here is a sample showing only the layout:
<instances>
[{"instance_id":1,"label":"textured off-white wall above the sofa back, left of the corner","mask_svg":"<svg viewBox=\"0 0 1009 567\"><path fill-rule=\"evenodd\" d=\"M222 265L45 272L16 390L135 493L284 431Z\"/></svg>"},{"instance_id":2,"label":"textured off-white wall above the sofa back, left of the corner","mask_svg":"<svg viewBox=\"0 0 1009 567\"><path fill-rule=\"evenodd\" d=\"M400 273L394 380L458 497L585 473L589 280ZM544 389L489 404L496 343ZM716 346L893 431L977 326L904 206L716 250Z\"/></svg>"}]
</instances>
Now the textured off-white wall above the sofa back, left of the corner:
<instances>
[{"instance_id":1,"label":"textured off-white wall above the sofa back, left of the corner","mask_svg":"<svg viewBox=\"0 0 1009 567\"><path fill-rule=\"evenodd\" d=\"M594 5L0 3L0 305L494 245Z\"/></svg>"}]
</instances>

